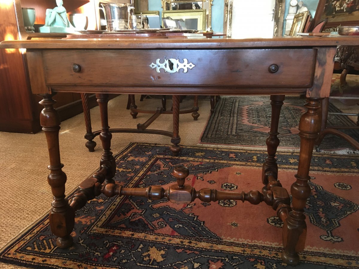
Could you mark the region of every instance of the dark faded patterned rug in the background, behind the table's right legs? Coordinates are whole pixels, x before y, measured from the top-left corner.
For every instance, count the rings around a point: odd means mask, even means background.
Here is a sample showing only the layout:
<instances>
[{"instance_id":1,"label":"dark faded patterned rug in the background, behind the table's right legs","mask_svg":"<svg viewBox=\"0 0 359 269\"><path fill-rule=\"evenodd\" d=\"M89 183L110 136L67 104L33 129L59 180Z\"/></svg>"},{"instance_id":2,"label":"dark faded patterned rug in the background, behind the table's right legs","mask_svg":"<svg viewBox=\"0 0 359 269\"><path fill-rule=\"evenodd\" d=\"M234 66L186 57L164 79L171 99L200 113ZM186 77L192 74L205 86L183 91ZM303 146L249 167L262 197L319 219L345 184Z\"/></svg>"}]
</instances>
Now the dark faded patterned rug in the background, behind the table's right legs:
<instances>
[{"instance_id":1,"label":"dark faded patterned rug in the background, behind the table's right legs","mask_svg":"<svg viewBox=\"0 0 359 269\"><path fill-rule=\"evenodd\" d=\"M270 130L271 105L269 96L222 96L209 118L200 143L266 147ZM286 96L281 108L279 121L279 148L299 148L299 120L306 111L305 99ZM341 112L329 103L330 112ZM356 126L347 116L328 115L328 126ZM358 130L341 130L359 141ZM326 135L320 145L321 150L353 148L344 139Z\"/></svg>"}]
</instances>

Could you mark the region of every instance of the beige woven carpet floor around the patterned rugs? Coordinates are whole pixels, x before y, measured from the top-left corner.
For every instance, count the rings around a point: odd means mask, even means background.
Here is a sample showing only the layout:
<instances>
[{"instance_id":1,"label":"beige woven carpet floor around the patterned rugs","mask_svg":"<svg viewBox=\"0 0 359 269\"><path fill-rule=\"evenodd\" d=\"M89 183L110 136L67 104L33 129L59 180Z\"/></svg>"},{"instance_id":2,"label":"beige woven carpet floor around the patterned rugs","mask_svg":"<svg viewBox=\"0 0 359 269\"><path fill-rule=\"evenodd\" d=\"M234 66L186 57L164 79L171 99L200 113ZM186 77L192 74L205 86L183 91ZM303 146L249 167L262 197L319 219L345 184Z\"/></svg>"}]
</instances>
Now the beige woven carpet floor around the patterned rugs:
<instances>
[{"instance_id":1,"label":"beige woven carpet floor around the patterned rugs","mask_svg":"<svg viewBox=\"0 0 359 269\"><path fill-rule=\"evenodd\" d=\"M137 98L139 96L136 96ZM148 119L149 114L139 114L137 119L132 119L129 110L125 109L126 103L127 95L118 96L109 102L110 127L136 128L137 123L144 123ZM159 99L145 99L144 102L137 100L141 109L157 108L161 106L160 103ZM171 102L168 102L167 107L170 106ZM191 100L184 100L181 109L189 109L192 106ZM201 132L210 116L209 100L200 100L199 107L201 115L198 121L193 121L191 114L180 115L180 136L183 145L198 145ZM93 130L99 129L101 124L98 107L91 109L91 117ZM172 131L172 115L160 115L150 128ZM84 134L85 123L82 114L61 123L60 151L61 162L65 165L63 171L67 175L66 194L76 188L99 165L101 142L96 137L95 152L88 152L85 148ZM130 142L170 144L170 138L160 135L115 133L112 138L112 152L119 152ZM201 146L211 147L203 144ZM35 135L0 132L0 154L1 248L50 209L52 195L46 180L49 161L43 132ZM23 267L0 263L0 268Z\"/></svg>"}]
</instances>

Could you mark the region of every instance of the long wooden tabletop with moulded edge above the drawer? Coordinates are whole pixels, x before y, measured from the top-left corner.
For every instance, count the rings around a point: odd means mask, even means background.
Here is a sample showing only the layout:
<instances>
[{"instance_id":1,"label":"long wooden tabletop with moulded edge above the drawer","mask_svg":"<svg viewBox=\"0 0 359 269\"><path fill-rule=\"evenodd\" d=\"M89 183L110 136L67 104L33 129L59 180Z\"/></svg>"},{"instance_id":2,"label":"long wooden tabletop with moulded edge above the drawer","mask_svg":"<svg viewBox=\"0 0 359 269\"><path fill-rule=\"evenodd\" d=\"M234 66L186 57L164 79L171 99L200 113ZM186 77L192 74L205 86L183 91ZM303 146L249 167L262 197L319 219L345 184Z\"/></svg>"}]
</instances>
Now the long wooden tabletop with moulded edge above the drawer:
<instances>
[{"instance_id":1,"label":"long wooden tabletop with moulded edge above the drawer","mask_svg":"<svg viewBox=\"0 0 359 269\"><path fill-rule=\"evenodd\" d=\"M47 39L3 41L0 48L32 49L214 49L259 47L359 46L358 37L279 37L279 38L202 38L202 39Z\"/></svg>"}]
</instances>

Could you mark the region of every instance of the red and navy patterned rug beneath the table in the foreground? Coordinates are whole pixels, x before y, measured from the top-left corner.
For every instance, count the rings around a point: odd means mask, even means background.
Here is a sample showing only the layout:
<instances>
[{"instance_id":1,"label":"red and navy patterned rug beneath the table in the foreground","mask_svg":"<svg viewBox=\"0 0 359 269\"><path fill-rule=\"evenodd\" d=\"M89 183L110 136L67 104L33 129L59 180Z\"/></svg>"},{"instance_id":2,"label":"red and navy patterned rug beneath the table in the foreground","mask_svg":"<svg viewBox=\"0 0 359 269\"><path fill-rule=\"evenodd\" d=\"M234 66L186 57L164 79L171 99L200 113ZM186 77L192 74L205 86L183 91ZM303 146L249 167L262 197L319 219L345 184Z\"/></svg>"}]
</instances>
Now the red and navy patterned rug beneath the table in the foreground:
<instances>
[{"instance_id":1,"label":"red and navy patterned rug beneath the table in the foreground","mask_svg":"<svg viewBox=\"0 0 359 269\"><path fill-rule=\"evenodd\" d=\"M173 167L190 170L186 184L248 192L260 190L265 152L131 143L116 156L116 184L174 184ZM306 208L306 248L295 268L359 267L359 160L314 154ZM298 154L279 152L280 180L294 181ZM66 171L66 170L65 170ZM71 195L70 195L71 197ZM62 250L45 215L5 246L0 261L29 268L293 268L282 263L281 226L264 203L225 200L173 204L165 200L100 195L76 212L74 246Z\"/></svg>"}]
</instances>

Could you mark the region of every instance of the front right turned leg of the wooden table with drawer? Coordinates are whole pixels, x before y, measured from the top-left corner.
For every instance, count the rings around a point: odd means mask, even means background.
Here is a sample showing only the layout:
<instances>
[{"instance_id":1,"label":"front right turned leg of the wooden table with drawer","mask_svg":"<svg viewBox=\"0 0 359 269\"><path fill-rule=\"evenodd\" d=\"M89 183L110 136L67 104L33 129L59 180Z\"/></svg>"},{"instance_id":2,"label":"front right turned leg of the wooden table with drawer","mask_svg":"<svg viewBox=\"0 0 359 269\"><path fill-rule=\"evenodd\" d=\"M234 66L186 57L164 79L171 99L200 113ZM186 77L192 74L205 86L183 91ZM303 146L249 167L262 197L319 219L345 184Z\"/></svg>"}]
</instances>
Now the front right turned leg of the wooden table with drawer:
<instances>
[{"instance_id":1,"label":"front right turned leg of the wooden table with drawer","mask_svg":"<svg viewBox=\"0 0 359 269\"><path fill-rule=\"evenodd\" d=\"M286 264L295 265L299 262L298 252L304 250L307 235L307 225L304 216L304 207L311 194L308 185L309 167L311 164L314 141L320 131L321 115L318 114L320 100L322 98L308 98L307 112L300 118L299 136L300 153L297 179L290 188L292 193L292 211L286 218L283 225L283 246L282 259Z\"/></svg>"}]
</instances>

